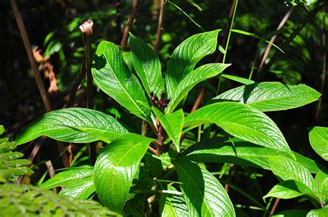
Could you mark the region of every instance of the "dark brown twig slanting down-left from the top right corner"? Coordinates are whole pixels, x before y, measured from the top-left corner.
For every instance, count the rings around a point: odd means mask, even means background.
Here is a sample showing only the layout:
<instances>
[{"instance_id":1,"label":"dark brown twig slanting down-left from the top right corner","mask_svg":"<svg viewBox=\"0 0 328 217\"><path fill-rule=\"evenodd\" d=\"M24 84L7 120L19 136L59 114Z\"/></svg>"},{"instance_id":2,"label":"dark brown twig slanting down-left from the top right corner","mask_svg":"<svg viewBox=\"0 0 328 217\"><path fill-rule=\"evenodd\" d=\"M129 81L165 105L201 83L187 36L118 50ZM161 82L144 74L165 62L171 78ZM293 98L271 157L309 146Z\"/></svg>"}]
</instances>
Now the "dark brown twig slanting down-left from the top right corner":
<instances>
[{"instance_id":1,"label":"dark brown twig slanting down-left from the top right corner","mask_svg":"<svg viewBox=\"0 0 328 217\"><path fill-rule=\"evenodd\" d=\"M325 0L321 0L318 3L318 5L316 6L316 8L314 8L314 10L312 10L309 13L309 15L307 15L307 17L305 17L305 19L302 21L302 23L300 23L298 25L298 27L291 33L291 35L289 35L289 37L286 39L286 41L284 41L282 46L280 46L280 48L282 48L282 50L286 49L286 47L289 46L289 44L291 44L291 41L293 41L293 39L298 35L298 33L300 33L300 31L304 28L304 26L307 26L307 23L309 23L309 21L311 21L311 19L314 16L316 16L316 14L323 8L323 6L325 6L325 3L326 3ZM264 66L264 68L259 69L258 80L261 80L264 77L264 75L266 75L266 72L271 68L271 66L277 61L277 59L281 55L282 55L281 52L276 52L275 55L273 55L273 57L270 59L268 64L266 64L266 66Z\"/></svg>"}]
</instances>

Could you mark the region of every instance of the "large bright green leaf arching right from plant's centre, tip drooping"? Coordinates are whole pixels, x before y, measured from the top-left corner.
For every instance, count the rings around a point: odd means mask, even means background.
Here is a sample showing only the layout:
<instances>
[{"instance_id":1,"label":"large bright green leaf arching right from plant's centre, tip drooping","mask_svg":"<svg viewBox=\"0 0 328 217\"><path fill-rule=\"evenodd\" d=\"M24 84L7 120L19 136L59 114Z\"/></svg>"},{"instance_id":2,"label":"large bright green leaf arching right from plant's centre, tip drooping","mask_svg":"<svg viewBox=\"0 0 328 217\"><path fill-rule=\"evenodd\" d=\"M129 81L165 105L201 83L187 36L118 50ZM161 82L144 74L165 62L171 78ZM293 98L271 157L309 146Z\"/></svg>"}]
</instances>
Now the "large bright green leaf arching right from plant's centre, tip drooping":
<instances>
[{"instance_id":1,"label":"large bright green leaf arching right from plant's centre, tip drooping","mask_svg":"<svg viewBox=\"0 0 328 217\"><path fill-rule=\"evenodd\" d=\"M227 133L242 140L291 152L275 122L250 106L238 102L218 102L185 117L185 126L206 123L215 123Z\"/></svg>"}]
</instances>

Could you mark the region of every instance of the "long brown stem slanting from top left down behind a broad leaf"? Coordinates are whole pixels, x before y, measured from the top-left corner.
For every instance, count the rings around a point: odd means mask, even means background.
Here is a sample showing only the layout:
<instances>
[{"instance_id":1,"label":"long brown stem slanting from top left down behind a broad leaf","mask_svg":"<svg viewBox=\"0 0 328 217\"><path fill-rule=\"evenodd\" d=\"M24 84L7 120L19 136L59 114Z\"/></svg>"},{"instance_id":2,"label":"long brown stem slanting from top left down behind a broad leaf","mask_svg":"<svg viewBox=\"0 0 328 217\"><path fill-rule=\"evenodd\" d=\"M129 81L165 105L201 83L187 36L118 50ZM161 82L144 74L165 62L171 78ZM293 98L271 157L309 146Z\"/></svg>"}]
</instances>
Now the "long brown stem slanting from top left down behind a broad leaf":
<instances>
[{"instance_id":1,"label":"long brown stem slanting from top left down behind a broad leaf","mask_svg":"<svg viewBox=\"0 0 328 217\"><path fill-rule=\"evenodd\" d=\"M19 32L21 32L21 38L23 39L25 50L28 55L28 60L30 62L30 66L33 70L33 74L35 76L35 81L37 82L37 87L39 88L39 92L41 94L42 101L44 103L44 107L46 109L46 112L50 112L50 111L52 111L51 104L48 99L46 89L44 88L44 83L42 82L42 78L39 73L39 69L37 68L37 63L35 62L35 58L33 56L32 47L30 46L30 39L28 38L28 34L26 32L26 28L25 28L23 19L21 18L21 13L19 12L19 9L18 9L18 6L17 6L17 3L15 0L10 0L10 5L12 8L12 12L15 16L15 19L17 21L17 26L19 28ZM64 147L64 144L60 141L56 141L56 142L57 142L57 147L58 147L59 151L61 153L64 153L64 151L66 150ZM69 157L66 153L64 153L62 155L62 161L63 161L64 167L69 167Z\"/></svg>"}]
</instances>

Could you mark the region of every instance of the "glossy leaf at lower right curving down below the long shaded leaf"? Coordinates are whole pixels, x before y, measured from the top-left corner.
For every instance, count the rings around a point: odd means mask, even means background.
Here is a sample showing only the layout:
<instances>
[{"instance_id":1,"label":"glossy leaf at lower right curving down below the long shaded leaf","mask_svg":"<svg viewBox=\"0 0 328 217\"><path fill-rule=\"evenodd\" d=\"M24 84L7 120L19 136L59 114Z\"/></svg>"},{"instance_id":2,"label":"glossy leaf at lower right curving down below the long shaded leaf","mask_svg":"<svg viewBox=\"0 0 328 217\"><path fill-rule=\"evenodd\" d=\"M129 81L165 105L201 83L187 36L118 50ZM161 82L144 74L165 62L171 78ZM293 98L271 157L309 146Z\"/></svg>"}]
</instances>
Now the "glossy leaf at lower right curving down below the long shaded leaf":
<instances>
[{"instance_id":1,"label":"glossy leaf at lower right curving down below the long shaded leaf","mask_svg":"<svg viewBox=\"0 0 328 217\"><path fill-rule=\"evenodd\" d=\"M305 185L302 188L302 193L317 198L318 186L310 171L302 164L282 156L268 156L268 161L275 176L280 177L282 180L294 180L302 183Z\"/></svg>"}]
</instances>

